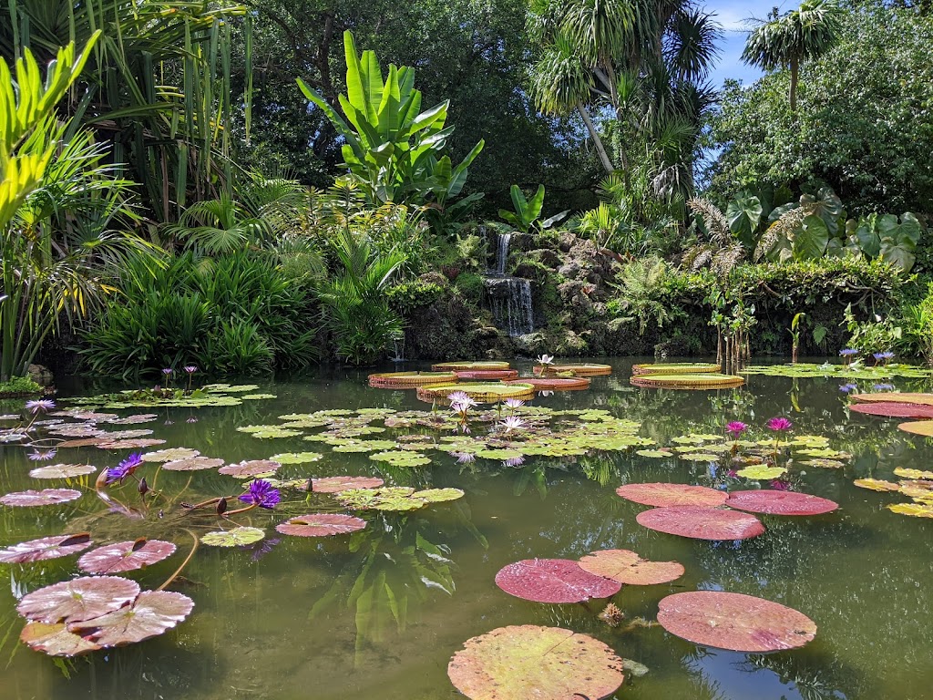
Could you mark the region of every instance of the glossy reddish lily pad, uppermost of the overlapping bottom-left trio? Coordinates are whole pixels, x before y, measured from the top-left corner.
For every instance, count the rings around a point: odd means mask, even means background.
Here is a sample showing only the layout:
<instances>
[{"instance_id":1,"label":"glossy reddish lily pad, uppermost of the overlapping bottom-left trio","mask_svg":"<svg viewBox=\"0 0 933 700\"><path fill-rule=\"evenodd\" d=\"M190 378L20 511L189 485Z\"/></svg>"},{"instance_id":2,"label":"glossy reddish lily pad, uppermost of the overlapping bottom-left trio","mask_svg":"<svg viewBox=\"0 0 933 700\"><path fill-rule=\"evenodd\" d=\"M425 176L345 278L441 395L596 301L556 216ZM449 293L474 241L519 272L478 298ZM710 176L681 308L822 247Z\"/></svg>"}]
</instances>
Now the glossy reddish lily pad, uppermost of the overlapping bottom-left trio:
<instances>
[{"instance_id":1,"label":"glossy reddish lily pad, uppermost of the overlapping bottom-left trio","mask_svg":"<svg viewBox=\"0 0 933 700\"><path fill-rule=\"evenodd\" d=\"M23 595L17 611L37 623L77 623L122 608L139 595L139 584L118 576L86 576L53 583Z\"/></svg>"}]
</instances>

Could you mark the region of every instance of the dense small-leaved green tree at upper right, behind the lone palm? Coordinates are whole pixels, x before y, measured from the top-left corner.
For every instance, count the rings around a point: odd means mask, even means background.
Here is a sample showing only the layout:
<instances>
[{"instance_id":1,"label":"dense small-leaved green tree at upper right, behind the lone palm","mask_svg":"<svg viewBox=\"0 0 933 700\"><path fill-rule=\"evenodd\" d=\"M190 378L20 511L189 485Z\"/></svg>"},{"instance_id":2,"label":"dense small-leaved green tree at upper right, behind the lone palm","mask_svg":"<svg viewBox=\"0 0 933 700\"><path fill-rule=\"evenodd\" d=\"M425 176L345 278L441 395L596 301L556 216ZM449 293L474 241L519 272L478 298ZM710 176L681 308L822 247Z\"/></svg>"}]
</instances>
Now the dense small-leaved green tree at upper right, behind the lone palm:
<instances>
[{"instance_id":1,"label":"dense small-leaved green tree at upper right, behind the lone palm","mask_svg":"<svg viewBox=\"0 0 933 700\"><path fill-rule=\"evenodd\" d=\"M839 43L801 67L800 107L787 73L727 82L712 124L722 147L712 189L829 185L856 216L933 211L933 17L867 2L841 16Z\"/></svg>"}]
</instances>

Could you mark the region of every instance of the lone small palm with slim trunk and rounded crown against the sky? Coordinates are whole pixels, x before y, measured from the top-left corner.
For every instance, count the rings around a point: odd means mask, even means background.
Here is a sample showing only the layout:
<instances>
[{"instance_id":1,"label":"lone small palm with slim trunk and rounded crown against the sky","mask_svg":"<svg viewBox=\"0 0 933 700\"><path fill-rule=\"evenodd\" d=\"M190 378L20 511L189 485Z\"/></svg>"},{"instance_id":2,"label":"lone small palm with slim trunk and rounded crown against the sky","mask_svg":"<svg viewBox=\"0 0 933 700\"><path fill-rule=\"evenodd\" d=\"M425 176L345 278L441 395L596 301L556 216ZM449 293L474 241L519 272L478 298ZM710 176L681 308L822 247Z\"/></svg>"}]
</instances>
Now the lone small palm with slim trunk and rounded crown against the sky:
<instances>
[{"instance_id":1,"label":"lone small palm with slim trunk and rounded crown against the sky","mask_svg":"<svg viewBox=\"0 0 933 700\"><path fill-rule=\"evenodd\" d=\"M842 9L836 0L804 0L783 17L776 13L749 35L742 60L766 71L790 69L790 111L797 111L801 63L830 49L839 36Z\"/></svg>"}]
</instances>

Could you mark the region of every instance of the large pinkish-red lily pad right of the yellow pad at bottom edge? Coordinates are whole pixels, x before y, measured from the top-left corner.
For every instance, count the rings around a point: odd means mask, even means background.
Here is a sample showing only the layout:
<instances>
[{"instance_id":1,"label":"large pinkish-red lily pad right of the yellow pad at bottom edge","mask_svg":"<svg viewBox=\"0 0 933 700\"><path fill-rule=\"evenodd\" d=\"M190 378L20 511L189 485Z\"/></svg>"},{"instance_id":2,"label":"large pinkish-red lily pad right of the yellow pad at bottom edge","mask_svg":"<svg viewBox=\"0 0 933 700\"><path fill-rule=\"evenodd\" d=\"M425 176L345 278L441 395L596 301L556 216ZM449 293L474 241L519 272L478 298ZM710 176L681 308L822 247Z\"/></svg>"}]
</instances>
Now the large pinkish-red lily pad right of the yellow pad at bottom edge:
<instances>
[{"instance_id":1,"label":"large pinkish-red lily pad right of the yellow pad at bottom edge","mask_svg":"<svg viewBox=\"0 0 933 700\"><path fill-rule=\"evenodd\" d=\"M802 647L816 625L798 610L753 595L692 591L668 595L658 623L695 644L730 651L781 651Z\"/></svg>"}]
</instances>

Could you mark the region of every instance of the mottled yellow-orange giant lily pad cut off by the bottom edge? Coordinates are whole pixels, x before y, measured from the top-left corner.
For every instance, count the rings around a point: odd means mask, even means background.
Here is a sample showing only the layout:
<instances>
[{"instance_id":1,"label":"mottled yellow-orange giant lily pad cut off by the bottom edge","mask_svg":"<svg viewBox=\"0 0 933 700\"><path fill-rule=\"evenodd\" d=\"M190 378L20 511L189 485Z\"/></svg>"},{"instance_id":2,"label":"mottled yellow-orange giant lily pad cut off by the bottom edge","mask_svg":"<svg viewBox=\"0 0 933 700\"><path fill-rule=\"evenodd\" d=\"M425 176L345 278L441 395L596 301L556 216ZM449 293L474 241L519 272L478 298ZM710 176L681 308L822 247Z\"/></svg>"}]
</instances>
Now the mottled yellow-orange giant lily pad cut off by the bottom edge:
<instances>
[{"instance_id":1,"label":"mottled yellow-orange giant lily pad cut off by the bottom edge","mask_svg":"<svg viewBox=\"0 0 933 700\"><path fill-rule=\"evenodd\" d=\"M471 700L598 700L620 687L621 668L622 660L601 641L522 624L468 639L447 675Z\"/></svg>"}]
</instances>

